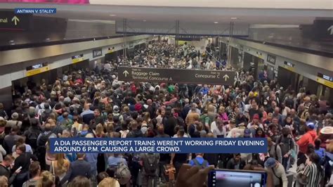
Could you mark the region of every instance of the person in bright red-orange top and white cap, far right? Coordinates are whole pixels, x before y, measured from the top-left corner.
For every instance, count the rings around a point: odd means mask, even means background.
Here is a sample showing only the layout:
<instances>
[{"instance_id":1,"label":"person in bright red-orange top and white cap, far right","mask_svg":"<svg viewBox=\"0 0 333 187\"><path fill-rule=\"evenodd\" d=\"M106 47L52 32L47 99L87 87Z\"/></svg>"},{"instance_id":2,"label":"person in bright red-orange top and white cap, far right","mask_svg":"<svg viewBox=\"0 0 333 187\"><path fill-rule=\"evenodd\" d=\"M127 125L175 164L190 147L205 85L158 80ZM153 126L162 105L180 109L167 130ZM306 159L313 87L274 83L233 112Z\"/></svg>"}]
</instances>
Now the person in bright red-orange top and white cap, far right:
<instances>
[{"instance_id":1,"label":"person in bright red-orange top and white cap, far right","mask_svg":"<svg viewBox=\"0 0 333 187\"><path fill-rule=\"evenodd\" d=\"M308 150L308 144L313 144L317 138L317 132L315 131L315 124L313 122L306 122L304 124L306 134L301 136L299 141L297 141L297 145L299 145L299 155L306 154Z\"/></svg>"}]
</instances>

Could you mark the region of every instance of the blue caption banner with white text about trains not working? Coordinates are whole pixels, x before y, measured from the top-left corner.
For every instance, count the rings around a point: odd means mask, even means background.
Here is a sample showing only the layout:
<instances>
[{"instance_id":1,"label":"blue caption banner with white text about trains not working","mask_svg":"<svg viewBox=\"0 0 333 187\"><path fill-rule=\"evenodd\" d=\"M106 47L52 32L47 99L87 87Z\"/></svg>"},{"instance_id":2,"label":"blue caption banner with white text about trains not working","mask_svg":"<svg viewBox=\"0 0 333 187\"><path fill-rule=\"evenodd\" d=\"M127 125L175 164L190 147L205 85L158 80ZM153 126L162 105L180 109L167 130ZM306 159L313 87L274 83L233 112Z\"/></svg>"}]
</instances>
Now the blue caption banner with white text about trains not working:
<instances>
[{"instance_id":1,"label":"blue caption banner with white text about trains not working","mask_svg":"<svg viewBox=\"0 0 333 187\"><path fill-rule=\"evenodd\" d=\"M51 153L266 153L266 138L51 138Z\"/></svg>"}]
</instances>

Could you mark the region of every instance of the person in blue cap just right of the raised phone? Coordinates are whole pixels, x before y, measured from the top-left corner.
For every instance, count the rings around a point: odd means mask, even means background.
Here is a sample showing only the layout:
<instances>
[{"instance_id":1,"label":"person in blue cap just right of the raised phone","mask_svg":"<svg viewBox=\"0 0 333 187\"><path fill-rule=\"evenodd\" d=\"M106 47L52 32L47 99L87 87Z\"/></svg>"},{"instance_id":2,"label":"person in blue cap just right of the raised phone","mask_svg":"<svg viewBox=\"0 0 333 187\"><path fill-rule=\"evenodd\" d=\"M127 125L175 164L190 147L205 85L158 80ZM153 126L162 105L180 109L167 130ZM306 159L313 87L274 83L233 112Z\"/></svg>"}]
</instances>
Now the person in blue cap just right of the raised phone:
<instances>
[{"instance_id":1,"label":"person in blue cap just right of the raised phone","mask_svg":"<svg viewBox=\"0 0 333 187\"><path fill-rule=\"evenodd\" d=\"M275 158L269 157L265 162L265 168L268 169L269 172L273 173L273 183L275 187L288 186L285 168L278 161L276 161Z\"/></svg>"}]
</instances>

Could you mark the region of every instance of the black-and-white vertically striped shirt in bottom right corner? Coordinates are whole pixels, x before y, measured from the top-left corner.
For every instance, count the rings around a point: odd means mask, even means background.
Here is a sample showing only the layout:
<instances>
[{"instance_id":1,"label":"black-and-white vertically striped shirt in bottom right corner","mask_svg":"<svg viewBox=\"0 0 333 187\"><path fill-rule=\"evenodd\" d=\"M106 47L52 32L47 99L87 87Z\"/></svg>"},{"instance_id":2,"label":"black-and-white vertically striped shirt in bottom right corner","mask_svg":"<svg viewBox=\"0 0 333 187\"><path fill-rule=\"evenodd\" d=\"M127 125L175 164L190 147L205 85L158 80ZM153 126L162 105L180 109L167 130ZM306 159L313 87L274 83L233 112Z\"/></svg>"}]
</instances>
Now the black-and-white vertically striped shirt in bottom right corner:
<instances>
[{"instance_id":1,"label":"black-and-white vertically striped shirt in bottom right corner","mask_svg":"<svg viewBox=\"0 0 333 187\"><path fill-rule=\"evenodd\" d=\"M323 173L320 173L317 166L312 163L311 165L307 165L303 171L303 175L306 176L308 180L308 184L306 187L319 187L320 180L322 179Z\"/></svg>"}]
</instances>

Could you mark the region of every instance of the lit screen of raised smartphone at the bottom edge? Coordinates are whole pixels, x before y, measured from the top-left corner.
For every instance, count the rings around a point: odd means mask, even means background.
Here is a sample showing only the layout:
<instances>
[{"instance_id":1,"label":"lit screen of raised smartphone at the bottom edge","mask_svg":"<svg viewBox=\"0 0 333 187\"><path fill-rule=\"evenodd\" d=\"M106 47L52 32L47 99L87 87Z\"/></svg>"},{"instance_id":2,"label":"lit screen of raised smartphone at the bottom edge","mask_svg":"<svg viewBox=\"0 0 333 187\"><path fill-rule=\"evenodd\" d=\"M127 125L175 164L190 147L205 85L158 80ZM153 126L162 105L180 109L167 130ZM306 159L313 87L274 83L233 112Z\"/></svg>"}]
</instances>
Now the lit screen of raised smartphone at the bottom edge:
<instances>
[{"instance_id":1,"label":"lit screen of raised smartphone at the bottom edge","mask_svg":"<svg viewBox=\"0 0 333 187\"><path fill-rule=\"evenodd\" d=\"M264 187L266 186L266 173L216 169L209 173L208 185L209 187Z\"/></svg>"}]
</instances>

